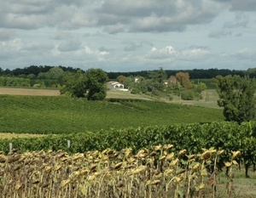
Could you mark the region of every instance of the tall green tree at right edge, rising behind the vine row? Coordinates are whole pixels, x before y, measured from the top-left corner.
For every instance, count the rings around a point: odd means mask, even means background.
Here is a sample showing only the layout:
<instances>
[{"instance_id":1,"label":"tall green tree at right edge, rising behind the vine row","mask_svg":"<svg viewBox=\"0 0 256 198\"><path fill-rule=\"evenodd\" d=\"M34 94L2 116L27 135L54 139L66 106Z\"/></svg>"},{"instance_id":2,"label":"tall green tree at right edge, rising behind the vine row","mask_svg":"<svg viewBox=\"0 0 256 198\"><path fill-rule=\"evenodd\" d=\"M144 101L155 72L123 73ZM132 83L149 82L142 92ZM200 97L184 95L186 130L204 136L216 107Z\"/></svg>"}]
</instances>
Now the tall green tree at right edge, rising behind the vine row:
<instances>
[{"instance_id":1,"label":"tall green tree at right edge, rising behind the vine row","mask_svg":"<svg viewBox=\"0 0 256 198\"><path fill-rule=\"evenodd\" d=\"M216 76L213 78L218 93L218 106L224 107L226 121L238 123L255 117L255 81L248 76Z\"/></svg>"}]
</instances>

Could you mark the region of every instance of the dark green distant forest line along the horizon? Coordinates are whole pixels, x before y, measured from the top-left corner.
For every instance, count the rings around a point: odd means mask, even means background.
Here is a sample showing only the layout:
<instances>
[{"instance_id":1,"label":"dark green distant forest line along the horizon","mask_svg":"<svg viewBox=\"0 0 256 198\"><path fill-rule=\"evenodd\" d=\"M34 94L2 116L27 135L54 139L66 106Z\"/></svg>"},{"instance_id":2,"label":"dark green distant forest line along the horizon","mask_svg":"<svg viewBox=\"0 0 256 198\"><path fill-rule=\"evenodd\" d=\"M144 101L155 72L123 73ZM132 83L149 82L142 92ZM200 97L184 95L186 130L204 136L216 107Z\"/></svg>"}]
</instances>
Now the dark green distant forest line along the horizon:
<instances>
[{"instance_id":1,"label":"dark green distant forest line along the horizon","mask_svg":"<svg viewBox=\"0 0 256 198\"><path fill-rule=\"evenodd\" d=\"M25 68L16 68L14 70L3 70L0 67L0 76L17 76L17 77L26 77L26 76L38 76L40 73L46 73L49 72L50 69L54 68L56 66L50 66L50 65L31 65ZM82 71L79 68L73 68L73 67L65 67L65 66L57 66L61 68L62 71L69 71L71 73L75 73L77 71ZM163 68L164 69L164 68ZM247 71L236 71L236 70L228 70L228 69L194 69L194 70L165 70L167 76L173 76L177 72L188 72L190 79L209 79L218 75L226 76L226 75L239 75L239 76L245 76L248 75L250 77L256 76L256 68L248 69ZM119 71L119 72L107 72L109 79L117 79L118 76L148 76L148 71Z\"/></svg>"}]
</instances>

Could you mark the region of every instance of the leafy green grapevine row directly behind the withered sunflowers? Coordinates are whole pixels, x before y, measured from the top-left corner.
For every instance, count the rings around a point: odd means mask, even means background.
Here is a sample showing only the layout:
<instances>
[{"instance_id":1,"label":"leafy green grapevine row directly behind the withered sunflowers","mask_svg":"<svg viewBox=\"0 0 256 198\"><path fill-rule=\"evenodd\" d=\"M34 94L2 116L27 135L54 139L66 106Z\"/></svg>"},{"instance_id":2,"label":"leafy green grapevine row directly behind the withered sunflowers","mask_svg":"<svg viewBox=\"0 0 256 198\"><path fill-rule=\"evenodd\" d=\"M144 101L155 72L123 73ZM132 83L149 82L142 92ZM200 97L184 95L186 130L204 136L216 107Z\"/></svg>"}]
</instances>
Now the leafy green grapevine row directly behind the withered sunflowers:
<instances>
[{"instance_id":1,"label":"leafy green grapevine row directly behind the withered sunflowers","mask_svg":"<svg viewBox=\"0 0 256 198\"><path fill-rule=\"evenodd\" d=\"M125 102L125 101L124 101ZM128 102L127 103L131 103ZM144 107L142 106L142 109ZM174 151L200 153L202 148L224 150L219 156L218 168L230 160L230 153L240 150L237 161L251 165L256 162L256 122L212 122L174 124L168 126L127 127L100 130L95 133L67 133L32 139L1 139L0 150L9 151L9 142L18 150L67 150L71 153L111 148L131 148L135 152L158 144L174 144ZM67 140L71 147L67 148Z\"/></svg>"}]
</instances>

